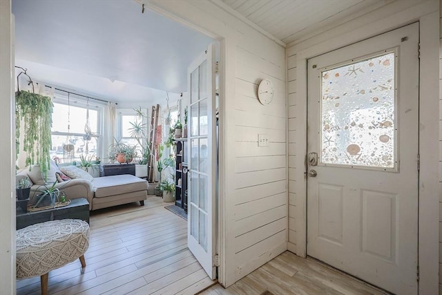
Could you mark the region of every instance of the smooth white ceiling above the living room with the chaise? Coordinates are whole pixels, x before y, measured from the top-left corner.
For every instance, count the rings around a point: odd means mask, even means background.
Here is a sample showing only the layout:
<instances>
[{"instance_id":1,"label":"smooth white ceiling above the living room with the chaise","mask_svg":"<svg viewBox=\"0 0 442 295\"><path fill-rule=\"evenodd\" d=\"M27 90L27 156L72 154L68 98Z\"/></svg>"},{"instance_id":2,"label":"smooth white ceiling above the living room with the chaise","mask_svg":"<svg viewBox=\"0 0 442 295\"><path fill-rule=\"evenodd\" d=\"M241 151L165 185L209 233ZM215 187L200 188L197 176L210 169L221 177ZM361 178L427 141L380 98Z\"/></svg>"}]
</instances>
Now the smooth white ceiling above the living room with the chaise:
<instances>
[{"instance_id":1,"label":"smooth white ceiling above the living room with the chaise","mask_svg":"<svg viewBox=\"0 0 442 295\"><path fill-rule=\"evenodd\" d=\"M165 102L212 39L131 0L13 0L16 66L114 102Z\"/></svg>"}]
</instances>

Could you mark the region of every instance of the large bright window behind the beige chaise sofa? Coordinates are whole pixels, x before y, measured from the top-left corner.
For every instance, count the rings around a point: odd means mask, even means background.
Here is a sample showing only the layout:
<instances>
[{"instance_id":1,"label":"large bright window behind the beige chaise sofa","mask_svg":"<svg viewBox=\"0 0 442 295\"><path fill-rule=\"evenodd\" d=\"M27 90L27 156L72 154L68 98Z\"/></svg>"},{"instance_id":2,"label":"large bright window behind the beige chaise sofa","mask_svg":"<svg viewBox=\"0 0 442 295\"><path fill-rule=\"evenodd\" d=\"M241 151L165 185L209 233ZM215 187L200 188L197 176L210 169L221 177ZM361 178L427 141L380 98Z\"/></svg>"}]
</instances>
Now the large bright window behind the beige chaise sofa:
<instances>
[{"instance_id":1,"label":"large bright window behind the beige chaise sofa","mask_svg":"<svg viewBox=\"0 0 442 295\"><path fill-rule=\"evenodd\" d=\"M94 159L103 158L101 149L103 113L102 104L73 99L73 95L70 95L70 99L65 95L54 97L51 158L61 163L78 161L80 155ZM86 135L86 122L90 136ZM66 144L73 145L72 157L66 157Z\"/></svg>"}]
</instances>

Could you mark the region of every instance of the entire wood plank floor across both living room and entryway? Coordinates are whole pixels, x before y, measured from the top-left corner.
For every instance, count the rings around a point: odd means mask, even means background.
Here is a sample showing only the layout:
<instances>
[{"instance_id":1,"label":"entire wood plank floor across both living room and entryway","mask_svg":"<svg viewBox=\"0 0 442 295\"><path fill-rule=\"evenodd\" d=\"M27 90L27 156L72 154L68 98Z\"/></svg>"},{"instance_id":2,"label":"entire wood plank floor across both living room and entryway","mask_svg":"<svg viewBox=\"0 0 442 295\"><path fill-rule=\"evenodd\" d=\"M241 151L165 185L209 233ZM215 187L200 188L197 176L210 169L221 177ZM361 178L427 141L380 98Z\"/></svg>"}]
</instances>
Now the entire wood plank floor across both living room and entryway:
<instances>
[{"instance_id":1,"label":"entire wood plank floor across both living room and entryway","mask_svg":"<svg viewBox=\"0 0 442 295\"><path fill-rule=\"evenodd\" d=\"M186 220L164 205L162 198L148 196L144 207L132 203L92 211L86 268L81 273L76 260L53 270L48 293L385 294L289 251L224 289L187 249ZM40 278L17 280L17 294L40 294Z\"/></svg>"}]
</instances>

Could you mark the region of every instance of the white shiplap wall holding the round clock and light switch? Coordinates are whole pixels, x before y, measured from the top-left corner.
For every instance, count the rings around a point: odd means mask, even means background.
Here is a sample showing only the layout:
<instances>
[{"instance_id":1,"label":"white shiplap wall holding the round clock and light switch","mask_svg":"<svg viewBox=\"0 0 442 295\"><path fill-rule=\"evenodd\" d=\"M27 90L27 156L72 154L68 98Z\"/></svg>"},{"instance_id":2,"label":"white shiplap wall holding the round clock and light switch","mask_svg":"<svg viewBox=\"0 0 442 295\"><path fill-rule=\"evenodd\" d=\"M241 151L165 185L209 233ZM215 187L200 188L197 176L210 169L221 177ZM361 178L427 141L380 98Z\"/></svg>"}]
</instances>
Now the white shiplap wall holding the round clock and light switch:
<instances>
[{"instance_id":1,"label":"white shiplap wall holding the round clock and light switch","mask_svg":"<svg viewBox=\"0 0 442 295\"><path fill-rule=\"evenodd\" d=\"M229 286L287 249L285 49L217 1L149 1L149 7L220 40L220 283ZM258 83L271 79L262 106ZM258 134L269 146L258 147Z\"/></svg>"}]
</instances>

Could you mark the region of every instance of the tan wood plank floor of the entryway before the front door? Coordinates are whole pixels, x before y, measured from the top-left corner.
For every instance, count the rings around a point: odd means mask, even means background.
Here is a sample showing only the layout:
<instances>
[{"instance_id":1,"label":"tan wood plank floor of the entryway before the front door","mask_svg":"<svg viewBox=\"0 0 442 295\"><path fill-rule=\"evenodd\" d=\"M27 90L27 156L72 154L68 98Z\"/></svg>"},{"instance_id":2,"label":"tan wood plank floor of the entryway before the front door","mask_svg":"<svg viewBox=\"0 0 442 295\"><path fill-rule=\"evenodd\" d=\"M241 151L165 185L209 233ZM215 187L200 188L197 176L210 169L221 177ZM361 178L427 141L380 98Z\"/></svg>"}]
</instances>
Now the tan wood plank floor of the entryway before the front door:
<instances>
[{"instance_id":1,"label":"tan wood plank floor of the entryway before the front door","mask_svg":"<svg viewBox=\"0 0 442 295\"><path fill-rule=\"evenodd\" d=\"M219 284L201 295L272 294L388 294L313 259L304 259L285 251L248 276L224 289Z\"/></svg>"}]
</instances>

